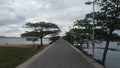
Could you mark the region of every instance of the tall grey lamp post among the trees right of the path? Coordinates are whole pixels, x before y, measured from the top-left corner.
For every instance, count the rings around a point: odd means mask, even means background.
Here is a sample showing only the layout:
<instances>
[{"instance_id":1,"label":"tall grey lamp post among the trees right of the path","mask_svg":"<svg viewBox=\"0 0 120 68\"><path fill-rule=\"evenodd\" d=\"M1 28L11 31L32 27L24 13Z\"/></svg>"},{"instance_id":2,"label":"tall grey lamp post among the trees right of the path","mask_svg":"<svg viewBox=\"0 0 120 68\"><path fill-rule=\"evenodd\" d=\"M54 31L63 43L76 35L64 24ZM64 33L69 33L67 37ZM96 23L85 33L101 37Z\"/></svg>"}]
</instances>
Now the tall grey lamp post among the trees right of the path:
<instances>
[{"instance_id":1,"label":"tall grey lamp post among the trees right of the path","mask_svg":"<svg viewBox=\"0 0 120 68\"><path fill-rule=\"evenodd\" d=\"M85 4L87 4L87 5L91 5L91 4L93 4L93 27L92 27L92 29L93 29L93 31L92 31L92 57L94 58L94 49L95 49L95 39L94 39L94 36L95 36L95 2L96 2L96 0L94 0L93 2L90 2L90 1L88 1L88 2L86 2Z\"/></svg>"}]
</instances>

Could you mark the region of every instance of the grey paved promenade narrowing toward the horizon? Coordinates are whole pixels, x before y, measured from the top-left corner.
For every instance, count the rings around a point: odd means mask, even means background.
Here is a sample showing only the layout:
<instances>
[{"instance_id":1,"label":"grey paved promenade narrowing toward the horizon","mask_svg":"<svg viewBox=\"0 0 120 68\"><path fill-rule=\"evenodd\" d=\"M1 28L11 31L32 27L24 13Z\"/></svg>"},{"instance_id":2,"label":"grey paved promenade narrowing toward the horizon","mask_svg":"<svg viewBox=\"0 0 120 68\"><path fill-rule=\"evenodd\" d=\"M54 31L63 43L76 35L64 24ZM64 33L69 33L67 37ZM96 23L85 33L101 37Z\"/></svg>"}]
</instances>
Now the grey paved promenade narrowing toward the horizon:
<instances>
[{"instance_id":1,"label":"grey paved promenade narrowing toward the horizon","mask_svg":"<svg viewBox=\"0 0 120 68\"><path fill-rule=\"evenodd\" d=\"M91 61L91 60L90 60ZM17 68L101 68L95 67L75 48L63 39L57 40L32 61Z\"/></svg>"}]
</instances>

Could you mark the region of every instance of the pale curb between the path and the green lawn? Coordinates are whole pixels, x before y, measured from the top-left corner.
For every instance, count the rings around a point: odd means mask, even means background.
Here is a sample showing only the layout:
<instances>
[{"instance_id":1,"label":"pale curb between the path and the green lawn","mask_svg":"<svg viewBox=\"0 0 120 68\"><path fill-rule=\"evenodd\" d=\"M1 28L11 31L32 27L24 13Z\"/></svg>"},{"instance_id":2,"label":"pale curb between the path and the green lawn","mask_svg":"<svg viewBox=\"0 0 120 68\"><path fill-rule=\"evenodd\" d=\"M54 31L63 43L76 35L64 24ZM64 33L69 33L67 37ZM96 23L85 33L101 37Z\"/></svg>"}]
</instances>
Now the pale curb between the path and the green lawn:
<instances>
[{"instance_id":1,"label":"pale curb between the path and the green lawn","mask_svg":"<svg viewBox=\"0 0 120 68\"><path fill-rule=\"evenodd\" d=\"M55 44L55 42L51 45L49 45L48 47L46 47L45 49L43 49L42 51L40 51L39 53L37 53L36 55L32 56L30 59L28 59L27 61L23 62L22 64L18 65L16 68L27 68L27 66L29 64L31 64L33 61L35 61L38 57L40 57L44 52L46 52L50 47L52 47Z\"/></svg>"}]
</instances>

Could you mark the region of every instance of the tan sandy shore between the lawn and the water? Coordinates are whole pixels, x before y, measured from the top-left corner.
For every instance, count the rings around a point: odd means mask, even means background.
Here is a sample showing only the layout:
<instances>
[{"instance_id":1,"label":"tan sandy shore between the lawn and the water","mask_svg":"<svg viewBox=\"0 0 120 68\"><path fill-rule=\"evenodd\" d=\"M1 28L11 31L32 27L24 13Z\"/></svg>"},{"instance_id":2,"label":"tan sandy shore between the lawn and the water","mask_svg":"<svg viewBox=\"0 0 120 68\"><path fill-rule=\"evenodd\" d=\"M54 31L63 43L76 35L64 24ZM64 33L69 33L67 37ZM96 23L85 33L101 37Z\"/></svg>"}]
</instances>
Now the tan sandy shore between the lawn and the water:
<instances>
[{"instance_id":1,"label":"tan sandy shore between the lawn and the water","mask_svg":"<svg viewBox=\"0 0 120 68\"><path fill-rule=\"evenodd\" d=\"M0 46L21 47L21 48L33 48L35 45L32 45L32 44L0 44ZM48 44L44 44L44 46L48 46Z\"/></svg>"}]
</instances>

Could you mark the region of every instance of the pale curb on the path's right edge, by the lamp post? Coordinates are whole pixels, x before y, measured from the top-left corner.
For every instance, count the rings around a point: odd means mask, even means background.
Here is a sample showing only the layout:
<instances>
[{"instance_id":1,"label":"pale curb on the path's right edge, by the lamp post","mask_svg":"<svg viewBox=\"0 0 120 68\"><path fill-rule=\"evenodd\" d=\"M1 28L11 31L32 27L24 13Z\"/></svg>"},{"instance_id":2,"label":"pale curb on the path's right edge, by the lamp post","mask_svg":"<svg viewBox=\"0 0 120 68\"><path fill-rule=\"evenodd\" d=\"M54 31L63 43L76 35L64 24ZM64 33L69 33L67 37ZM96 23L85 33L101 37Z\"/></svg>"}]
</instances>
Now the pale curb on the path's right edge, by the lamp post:
<instances>
[{"instance_id":1,"label":"pale curb on the path's right edge, by the lamp post","mask_svg":"<svg viewBox=\"0 0 120 68\"><path fill-rule=\"evenodd\" d=\"M65 40L64 40L65 41ZM93 60L92 58L88 57L87 55L85 55L82 51L78 50L77 48L75 48L73 45L71 45L70 43L68 43L67 41L65 41L67 44L69 44L73 49L75 49L78 53L80 53L89 63L91 63L95 68L104 68L103 65L99 64L98 62L96 62L95 60Z\"/></svg>"}]
</instances>

